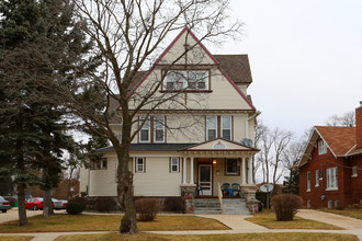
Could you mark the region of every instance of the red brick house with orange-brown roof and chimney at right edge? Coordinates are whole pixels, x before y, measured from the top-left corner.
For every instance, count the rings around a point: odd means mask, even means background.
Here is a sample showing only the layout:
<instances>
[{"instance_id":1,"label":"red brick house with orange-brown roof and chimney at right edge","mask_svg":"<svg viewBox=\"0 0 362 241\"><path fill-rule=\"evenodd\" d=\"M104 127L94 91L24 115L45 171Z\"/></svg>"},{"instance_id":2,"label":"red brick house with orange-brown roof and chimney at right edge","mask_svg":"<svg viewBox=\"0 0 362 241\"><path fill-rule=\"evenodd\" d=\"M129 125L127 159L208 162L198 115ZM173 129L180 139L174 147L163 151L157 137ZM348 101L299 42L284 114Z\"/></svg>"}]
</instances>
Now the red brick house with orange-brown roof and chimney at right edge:
<instances>
[{"instance_id":1,"label":"red brick house with orange-brown roof and chimney at right edge","mask_svg":"<svg viewBox=\"0 0 362 241\"><path fill-rule=\"evenodd\" d=\"M362 199L362 102L355 127L316 126L299 161L299 194L308 207L343 208Z\"/></svg>"}]
</instances>

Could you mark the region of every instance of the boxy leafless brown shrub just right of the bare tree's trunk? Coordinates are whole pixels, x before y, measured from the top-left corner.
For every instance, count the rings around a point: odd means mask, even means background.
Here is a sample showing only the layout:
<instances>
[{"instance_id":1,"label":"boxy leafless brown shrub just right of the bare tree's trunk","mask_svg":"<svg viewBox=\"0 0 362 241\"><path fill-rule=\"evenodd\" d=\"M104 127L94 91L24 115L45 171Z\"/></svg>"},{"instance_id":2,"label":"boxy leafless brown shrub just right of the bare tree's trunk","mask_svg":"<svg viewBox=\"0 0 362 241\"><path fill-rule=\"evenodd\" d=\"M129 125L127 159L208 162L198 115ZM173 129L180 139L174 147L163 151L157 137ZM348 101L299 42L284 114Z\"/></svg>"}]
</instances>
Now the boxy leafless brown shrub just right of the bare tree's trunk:
<instances>
[{"instance_id":1,"label":"boxy leafless brown shrub just right of the bare tree's trunk","mask_svg":"<svg viewBox=\"0 0 362 241\"><path fill-rule=\"evenodd\" d=\"M159 199L140 198L135 200L136 213L139 221L152 221L159 209Z\"/></svg>"}]
</instances>

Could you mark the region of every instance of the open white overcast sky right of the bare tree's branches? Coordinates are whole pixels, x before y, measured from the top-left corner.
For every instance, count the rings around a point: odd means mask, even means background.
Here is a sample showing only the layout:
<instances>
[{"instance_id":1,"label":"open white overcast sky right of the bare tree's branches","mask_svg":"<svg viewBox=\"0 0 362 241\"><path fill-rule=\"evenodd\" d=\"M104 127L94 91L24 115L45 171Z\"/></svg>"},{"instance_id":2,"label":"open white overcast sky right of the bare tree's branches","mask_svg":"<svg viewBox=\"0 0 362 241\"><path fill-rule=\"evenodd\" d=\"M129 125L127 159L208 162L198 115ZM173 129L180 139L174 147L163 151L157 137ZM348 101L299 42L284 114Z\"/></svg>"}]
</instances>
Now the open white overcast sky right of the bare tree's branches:
<instances>
[{"instance_id":1,"label":"open white overcast sky right of the bare tree's branches","mask_svg":"<svg viewBox=\"0 0 362 241\"><path fill-rule=\"evenodd\" d=\"M361 0L233 0L245 37L213 54L248 54L265 125L303 134L362 101Z\"/></svg>"}]
</instances>

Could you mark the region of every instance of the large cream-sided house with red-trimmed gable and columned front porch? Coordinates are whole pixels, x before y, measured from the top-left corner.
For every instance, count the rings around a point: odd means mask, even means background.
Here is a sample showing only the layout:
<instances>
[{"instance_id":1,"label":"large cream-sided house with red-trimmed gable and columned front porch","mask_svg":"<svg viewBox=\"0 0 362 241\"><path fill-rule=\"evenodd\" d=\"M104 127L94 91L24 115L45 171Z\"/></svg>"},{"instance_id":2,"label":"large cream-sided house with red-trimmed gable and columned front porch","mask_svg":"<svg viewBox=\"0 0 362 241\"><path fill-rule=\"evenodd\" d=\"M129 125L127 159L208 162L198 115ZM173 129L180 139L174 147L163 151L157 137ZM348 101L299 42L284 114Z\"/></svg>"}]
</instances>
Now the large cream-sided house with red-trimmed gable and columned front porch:
<instances>
[{"instance_id":1,"label":"large cream-sided house with red-trimmed gable and columned front porch","mask_svg":"<svg viewBox=\"0 0 362 241\"><path fill-rule=\"evenodd\" d=\"M178 53L193 45L170 65ZM162 74L163 84L155 100L182 94L154 111L131 145L134 196L212 197L219 194L218 185L238 183L251 202L256 193L252 158L259 151L253 148L254 123L260 112L247 94L252 82L248 56L211 55L184 28L148 72L139 72L131 93L144 92ZM137 118L138 123L145 120L143 112ZM121 131L121 123L113 126L115 133ZM81 170L80 192L116 196L116 154L113 147L102 151L103 158L90 170Z\"/></svg>"}]
</instances>

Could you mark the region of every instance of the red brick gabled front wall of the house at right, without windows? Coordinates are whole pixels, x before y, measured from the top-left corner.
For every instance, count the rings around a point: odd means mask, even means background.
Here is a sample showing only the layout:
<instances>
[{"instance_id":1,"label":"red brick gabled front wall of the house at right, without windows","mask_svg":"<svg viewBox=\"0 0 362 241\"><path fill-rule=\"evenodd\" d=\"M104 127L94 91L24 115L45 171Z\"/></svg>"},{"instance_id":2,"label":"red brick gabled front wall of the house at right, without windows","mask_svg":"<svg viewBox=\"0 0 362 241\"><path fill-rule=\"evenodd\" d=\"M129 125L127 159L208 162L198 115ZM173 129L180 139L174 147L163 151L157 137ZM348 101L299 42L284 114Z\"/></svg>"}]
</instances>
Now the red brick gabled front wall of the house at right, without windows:
<instances>
[{"instance_id":1,"label":"red brick gabled front wall of the house at right, without windows","mask_svg":"<svg viewBox=\"0 0 362 241\"><path fill-rule=\"evenodd\" d=\"M338 168L338 191L326 191L327 188L327 169ZM319 186L316 186L316 170L323 171L323 180L319 180ZM339 200L339 206L346 206L348 199L344 197L344 185L348 180L343 168L343 159L335 158L333 154L328 149L326 154L318 154L318 148L314 148L312 151L312 160L309 160L305 165L299 168L299 195L303 198L303 203L307 206L307 200L310 200L312 207L328 207L328 200L332 200L332 206L335 207L335 202ZM350 170L350 169L348 169ZM307 192L307 172L310 172L310 192ZM348 174L347 174L348 175ZM351 176L351 175L349 175ZM351 193L351 191L350 191ZM321 196L324 195L324 199Z\"/></svg>"}]
</instances>

